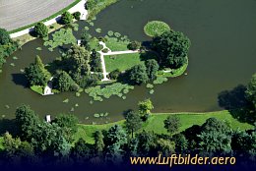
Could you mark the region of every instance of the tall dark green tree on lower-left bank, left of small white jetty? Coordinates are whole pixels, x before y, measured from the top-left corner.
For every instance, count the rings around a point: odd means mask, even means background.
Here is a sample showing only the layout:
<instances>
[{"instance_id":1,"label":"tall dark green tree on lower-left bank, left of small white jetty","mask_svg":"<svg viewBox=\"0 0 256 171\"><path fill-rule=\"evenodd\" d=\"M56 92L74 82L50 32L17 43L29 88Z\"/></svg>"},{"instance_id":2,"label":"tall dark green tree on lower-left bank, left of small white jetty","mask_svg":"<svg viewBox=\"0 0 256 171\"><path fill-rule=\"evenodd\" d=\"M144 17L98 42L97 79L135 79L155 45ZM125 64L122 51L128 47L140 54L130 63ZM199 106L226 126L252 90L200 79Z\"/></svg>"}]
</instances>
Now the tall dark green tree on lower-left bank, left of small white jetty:
<instances>
[{"instance_id":1,"label":"tall dark green tree on lower-left bank, left of small white jetty","mask_svg":"<svg viewBox=\"0 0 256 171\"><path fill-rule=\"evenodd\" d=\"M21 105L17 108L16 122L19 128L20 137L24 140L31 141L32 134L40 123L38 116L34 113L29 105Z\"/></svg>"}]
</instances>

